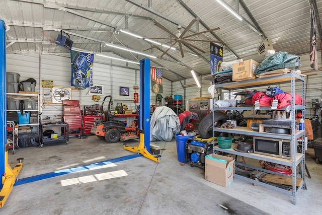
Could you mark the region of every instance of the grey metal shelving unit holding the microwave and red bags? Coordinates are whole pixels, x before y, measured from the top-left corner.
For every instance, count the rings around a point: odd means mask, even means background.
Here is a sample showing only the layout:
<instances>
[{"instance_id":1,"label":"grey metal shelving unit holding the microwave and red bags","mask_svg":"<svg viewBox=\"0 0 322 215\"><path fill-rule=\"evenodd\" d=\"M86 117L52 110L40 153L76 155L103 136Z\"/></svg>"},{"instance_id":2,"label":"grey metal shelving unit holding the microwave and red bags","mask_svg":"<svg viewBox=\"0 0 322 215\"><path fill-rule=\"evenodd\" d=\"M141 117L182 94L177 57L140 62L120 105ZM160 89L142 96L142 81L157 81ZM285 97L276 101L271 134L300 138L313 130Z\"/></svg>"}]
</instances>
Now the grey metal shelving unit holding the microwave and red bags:
<instances>
[{"instance_id":1,"label":"grey metal shelving unit holding the microwave and red bags","mask_svg":"<svg viewBox=\"0 0 322 215\"><path fill-rule=\"evenodd\" d=\"M243 156L246 158L251 158L251 159L256 159L256 160L263 160L267 162L272 162L276 164L281 164L285 166L290 166L292 167L292 190L286 190L282 189L270 184L266 184L260 181L256 181L251 178L247 178L244 176L236 175L234 174L234 177L236 178L241 178L244 180L247 180L251 183L255 184L260 184L262 186L272 188L274 190L290 194L292 195L292 203L296 204L296 194L297 191L300 190L301 188L305 188L305 149L304 149L304 144L301 145L302 153L297 153L297 139L302 138L304 139L305 132L304 131L296 131L296 120L295 120L295 111L296 110L301 110L302 111L302 116L305 118L305 104L304 104L304 98L305 98L305 76L297 74L294 69L291 70L290 73L281 75L281 76L276 76L276 77L270 77L270 78L263 78L263 79L252 79L252 80L247 80L247 81L240 81L240 82L232 82L232 83L225 83L225 84L219 84L215 85L216 89L224 89L224 90L235 90L235 89L243 89L243 88L249 88L249 87L259 87L259 86L268 86L268 85L276 85L276 84L284 84L284 83L290 83L291 84L291 95L292 95L292 102L291 102L291 114L290 118L293 119L291 123L291 134L274 134L274 133L267 133L267 132L257 132L253 131L251 128L248 127L235 127L233 129L226 129L226 128L213 128L213 133L216 132L225 132L225 133L232 133L232 134L246 134L250 136L261 136L261 137L276 137L276 138L283 138L283 139L289 139L291 140L291 160L288 159L283 159L283 158L275 158L271 156L266 156L266 155L260 155L260 154L254 154L254 153L240 153L235 150L233 150L234 147L232 146L231 149L220 149L218 146L213 147L213 153L215 151L218 152L224 152L228 154L233 154L236 156ZM295 82L300 82L301 83L301 89L302 89L302 105L295 105ZM213 110L254 110L255 107L229 107L229 108L214 108ZM260 110L271 110L271 107L261 107ZM283 109L279 109L277 111L283 111ZM214 111L213 111L214 112ZM300 185L297 186L296 184L296 167L298 165L300 166L300 174L301 174L301 181ZM241 164L243 166L243 164ZM244 165L248 166L248 165ZM248 166L250 167L250 166ZM252 167L251 167L252 168ZM257 169L257 168L254 168ZM269 172L272 174L277 174L274 172L271 172L269 170L265 169L260 169L263 172Z\"/></svg>"}]
</instances>

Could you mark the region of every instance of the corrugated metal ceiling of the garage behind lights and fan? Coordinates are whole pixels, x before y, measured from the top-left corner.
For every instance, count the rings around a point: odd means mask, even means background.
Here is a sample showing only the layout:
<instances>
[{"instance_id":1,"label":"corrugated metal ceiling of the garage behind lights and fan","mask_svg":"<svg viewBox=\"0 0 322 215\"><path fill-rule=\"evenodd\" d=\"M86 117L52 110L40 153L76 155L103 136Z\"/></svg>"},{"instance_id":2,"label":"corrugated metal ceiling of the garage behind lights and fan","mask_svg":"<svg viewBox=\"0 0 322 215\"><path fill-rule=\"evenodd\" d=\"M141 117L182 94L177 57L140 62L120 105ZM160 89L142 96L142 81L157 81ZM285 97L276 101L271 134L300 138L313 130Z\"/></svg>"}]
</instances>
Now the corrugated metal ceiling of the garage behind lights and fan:
<instances>
[{"instance_id":1,"label":"corrugated metal ceiling of the garage behind lights and fan","mask_svg":"<svg viewBox=\"0 0 322 215\"><path fill-rule=\"evenodd\" d=\"M151 2L151 8L148 7L149 2ZM225 2L236 9L235 0L225 0ZM309 52L308 1L244 0L243 2L263 33L273 43L276 51L287 51L291 54ZM321 12L322 0L316 0L316 5L318 12ZM244 10L241 4L238 6L238 13L243 19L255 26L247 10ZM186 36L208 28L220 27L213 32L214 34L207 32L191 38L211 40L220 38L226 45L223 50L224 61L236 59L234 53L244 60L251 58L258 62L263 60L263 56L257 53L257 47L264 38L214 0L3 0L0 19L10 26L6 34L8 53L68 52L67 49L54 43L61 29L70 33L74 48L90 52L113 52L130 60L139 60L144 56L111 48L106 46L105 42L133 50L145 50L145 53L157 56L156 59L152 59L151 64L164 67L163 76L170 81L191 78L191 69L194 69L197 74L208 75L210 73L209 42L191 42L206 53L183 45L185 57L182 57L179 45L176 44L177 50L170 50L160 57L167 48L162 46L155 48L152 43L143 39L113 31L127 29L145 38L171 38L169 33L155 24L158 23L176 34L177 25L183 26L181 29L183 32L184 27L188 26L191 20L197 19ZM316 34L317 40L320 40L320 32L317 31ZM171 42L161 39L157 41ZM319 45L317 49L320 50ZM193 56L188 52L198 53L199 56Z\"/></svg>"}]
</instances>

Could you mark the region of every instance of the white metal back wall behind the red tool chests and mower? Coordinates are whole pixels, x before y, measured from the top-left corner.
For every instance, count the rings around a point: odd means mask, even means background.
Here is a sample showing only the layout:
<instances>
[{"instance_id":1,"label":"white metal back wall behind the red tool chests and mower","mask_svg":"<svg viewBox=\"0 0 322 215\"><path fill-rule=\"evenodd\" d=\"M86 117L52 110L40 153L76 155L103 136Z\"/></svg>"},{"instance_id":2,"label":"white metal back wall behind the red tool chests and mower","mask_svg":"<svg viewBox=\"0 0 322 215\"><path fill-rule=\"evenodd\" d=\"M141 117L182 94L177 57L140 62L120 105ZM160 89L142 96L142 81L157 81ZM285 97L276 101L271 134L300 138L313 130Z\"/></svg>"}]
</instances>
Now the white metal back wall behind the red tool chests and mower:
<instances>
[{"instance_id":1,"label":"white metal back wall behind the red tool chests and mower","mask_svg":"<svg viewBox=\"0 0 322 215\"><path fill-rule=\"evenodd\" d=\"M78 90L70 86L70 55L69 53L26 53L26 54L7 54L7 72L19 73L20 81L33 78L37 81L35 90L43 95L43 89L40 88L41 80L50 80L54 82L55 87L64 87L72 89L72 100L81 101L84 105L102 104L105 96L113 96L114 106L117 103L126 104L128 109L135 109L139 103L134 103L133 85L140 86L139 66L117 62L105 57L94 57L93 81L94 84L104 86L104 95L99 102L92 100L92 95L88 95L89 90ZM129 96L120 96L119 87L130 88ZM163 80L164 97L171 94L171 82ZM139 93L139 91L136 91ZM41 103L42 119L62 115L62 105L53 104L51 99L44 99ZM150 93L150 104L155 104L155 94ZM104 109L108 103L105 102Z\"/></svg>"}]
</instances>

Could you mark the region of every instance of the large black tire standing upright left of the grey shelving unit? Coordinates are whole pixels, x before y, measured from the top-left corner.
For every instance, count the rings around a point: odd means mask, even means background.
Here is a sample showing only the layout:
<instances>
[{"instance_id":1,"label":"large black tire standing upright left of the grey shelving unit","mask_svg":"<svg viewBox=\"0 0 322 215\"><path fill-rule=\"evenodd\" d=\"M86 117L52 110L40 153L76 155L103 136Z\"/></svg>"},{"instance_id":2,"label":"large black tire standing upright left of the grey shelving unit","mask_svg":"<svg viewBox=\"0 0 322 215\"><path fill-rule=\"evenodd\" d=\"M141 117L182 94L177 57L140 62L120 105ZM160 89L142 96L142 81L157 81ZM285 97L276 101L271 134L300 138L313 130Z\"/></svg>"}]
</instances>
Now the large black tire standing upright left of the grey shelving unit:
<instances>
[{"instance_id":1,"label":"large black tire standing upright left of the grey shelving unit","mask_svg":"<svg viewBox=\"0 0 322 215\"><path fill-rule=\"evenodd\" d=\"M216 110L214 112L215 120L214 120L214 127L220 127L223 123L226 122L228 119L227 114L222 111ZM206 115L198 125L198 133L203 139L208 139L212 137L212 112ZM215 136L218 136L220 132L215 132Z\"/></svg>"}]
</instances>

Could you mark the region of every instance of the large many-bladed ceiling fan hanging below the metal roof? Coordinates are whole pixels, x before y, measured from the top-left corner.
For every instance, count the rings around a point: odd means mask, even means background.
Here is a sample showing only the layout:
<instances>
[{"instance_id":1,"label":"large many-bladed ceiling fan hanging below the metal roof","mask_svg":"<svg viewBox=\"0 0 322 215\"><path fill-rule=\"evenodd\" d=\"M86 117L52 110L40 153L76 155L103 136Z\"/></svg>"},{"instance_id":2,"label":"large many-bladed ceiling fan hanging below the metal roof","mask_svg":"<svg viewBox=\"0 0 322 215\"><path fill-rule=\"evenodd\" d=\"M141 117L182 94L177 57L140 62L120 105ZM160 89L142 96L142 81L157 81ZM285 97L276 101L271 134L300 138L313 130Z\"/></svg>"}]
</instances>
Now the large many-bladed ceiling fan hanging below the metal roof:
<instances>
[{"instance_id":1,"label":"large many-bladed ceiling fan hanging below the metal roof","mask_svg":"<svg viewBox=\"0 0 322 215\"><path fill-rule=\"evenodd\" d=\"M183 32L180 31L182 27L180 25L178 25L177 26L178 32L176 34L172 33L171 31L169 31L168 29L166 29L165 27L163 27L163 26L161 26L159 24L155 24L155 26L159 27L160 29L162 29L162 30L168 32L170 35L172 35L173 38L143 38L143 39L171 40L170 42L165 42L164 43L164 44L166 44L166 43L172 43L172 44L171 44L170 48L168 48L166 51L164 51L164 53L161 55L161 57L163 57L171 49L171 47L173 47L176 43L179 44L180 52L181 52L181 56L182 57L185 56L184 53L183 53L182 44L186 45L187 47L189 47L189 46L190 47L193 47L193 48L197 49L198 51L200 51L202 53L205 53L204 50L198 48L197 46L191 44L188 41L220 43L219 41L215 41L215 40L189 39L190 37L193 37L193 36L197 36L197 35L200 35L200 34L203 34L203 33L206 33L206 32L211 32L211 31L218 30L219 27L218 28L209 29L209 30L206 30L206 31L201 31L201 32L198 32L198 33L195 33L195 34L190 34L188 36L185 36L185 34L187 33L187 31L192 27L192 25L195 22L196 22L196 20L192 20L190 22L190 24L187 26L187 28Z\"/></svg>"}]
</instances>

